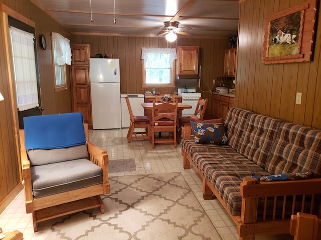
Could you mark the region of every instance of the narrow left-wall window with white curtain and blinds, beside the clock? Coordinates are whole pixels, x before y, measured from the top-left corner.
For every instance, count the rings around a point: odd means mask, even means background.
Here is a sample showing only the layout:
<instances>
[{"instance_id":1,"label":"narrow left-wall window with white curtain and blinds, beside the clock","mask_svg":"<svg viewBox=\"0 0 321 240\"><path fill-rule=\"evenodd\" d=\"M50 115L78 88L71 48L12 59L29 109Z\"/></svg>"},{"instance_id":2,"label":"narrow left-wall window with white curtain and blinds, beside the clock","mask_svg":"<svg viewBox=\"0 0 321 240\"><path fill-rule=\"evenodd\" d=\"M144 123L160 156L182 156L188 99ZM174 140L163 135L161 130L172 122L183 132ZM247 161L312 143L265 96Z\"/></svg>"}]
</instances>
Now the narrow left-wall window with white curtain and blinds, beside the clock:
<instances>
[{"instance_id":1,"label":"narrow left-wall window with white curtain and blinds, beside the clock","mask_svg":"<svg viewBox=\"0 0 321 240\"><path fill-rule=\"evenodd\" d=\"M65 64L71 64L70 41L57 32L52 32L51 37L55 91L61 91L67 89Z\"/></svg>"}]
</instances>

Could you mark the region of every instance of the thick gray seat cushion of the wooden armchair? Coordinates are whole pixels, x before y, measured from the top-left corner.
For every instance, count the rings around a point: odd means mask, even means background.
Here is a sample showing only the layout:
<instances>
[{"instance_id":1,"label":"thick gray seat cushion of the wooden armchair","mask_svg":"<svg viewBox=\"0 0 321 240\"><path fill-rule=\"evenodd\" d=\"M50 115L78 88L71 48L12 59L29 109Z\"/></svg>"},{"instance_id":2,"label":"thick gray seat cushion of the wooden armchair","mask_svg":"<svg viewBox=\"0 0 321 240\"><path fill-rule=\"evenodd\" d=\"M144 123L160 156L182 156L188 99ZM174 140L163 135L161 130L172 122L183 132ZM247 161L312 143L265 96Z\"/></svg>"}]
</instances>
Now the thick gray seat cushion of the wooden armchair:
<instances>
[{"instance_id":1,"label":"thick gray seat cushion of the wooden armchair","mask_svg":"<svg viewBox=\"0 0 321 240\"><path fill-rule=\"evenodd\" d=\"M102 169L85 158L31 167L35 197L102 183Z\"/></svg>"}]
</instances>

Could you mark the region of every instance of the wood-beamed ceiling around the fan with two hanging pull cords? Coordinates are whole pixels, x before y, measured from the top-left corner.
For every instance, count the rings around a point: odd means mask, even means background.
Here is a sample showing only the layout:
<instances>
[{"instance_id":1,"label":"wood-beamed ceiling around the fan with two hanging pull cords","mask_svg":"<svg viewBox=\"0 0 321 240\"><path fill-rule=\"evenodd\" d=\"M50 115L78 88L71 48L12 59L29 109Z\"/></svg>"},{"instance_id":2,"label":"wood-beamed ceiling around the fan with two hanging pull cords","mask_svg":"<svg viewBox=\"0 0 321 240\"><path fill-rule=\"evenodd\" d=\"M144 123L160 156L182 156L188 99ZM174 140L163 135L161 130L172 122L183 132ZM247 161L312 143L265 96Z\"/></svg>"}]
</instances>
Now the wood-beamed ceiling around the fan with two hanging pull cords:
<instances>
[{"instance_id":1,"label":"wood-beamed ceiling around the fan with two hanging pull cords","mask_svg":"<svg viewBox=\"0 0 321 240\"><path fill-rule=\"evenodd\" d=\"M31 1L73 34L154 37L165 21L191 27L184 31L193 37L221 38L238 30L238 0Z\"/></svg>"}]
</instances>

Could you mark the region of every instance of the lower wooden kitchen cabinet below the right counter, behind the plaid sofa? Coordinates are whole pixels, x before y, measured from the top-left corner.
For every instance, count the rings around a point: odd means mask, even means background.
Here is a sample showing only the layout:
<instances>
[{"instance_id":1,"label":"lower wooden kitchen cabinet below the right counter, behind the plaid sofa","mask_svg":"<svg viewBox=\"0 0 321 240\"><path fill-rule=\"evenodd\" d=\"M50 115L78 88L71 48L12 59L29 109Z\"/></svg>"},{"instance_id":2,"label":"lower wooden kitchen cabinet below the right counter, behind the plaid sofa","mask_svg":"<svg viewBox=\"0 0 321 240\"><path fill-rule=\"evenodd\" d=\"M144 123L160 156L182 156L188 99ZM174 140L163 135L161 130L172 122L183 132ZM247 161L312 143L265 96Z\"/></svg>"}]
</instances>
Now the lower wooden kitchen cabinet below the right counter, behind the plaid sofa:
<instances>
[{"instance_id":1,"label":"lower wooden kitchen cabinet below the right counter, behind the plaid sofa","mask_svg":"<svg viewBox=\"0 0 321 240\"><path fill-rule=\"evenodd\" d=\"M230 107L234 106L234 97L213 94L213 115L215 118L223 118Z\"/></svg>"}]
</instances>

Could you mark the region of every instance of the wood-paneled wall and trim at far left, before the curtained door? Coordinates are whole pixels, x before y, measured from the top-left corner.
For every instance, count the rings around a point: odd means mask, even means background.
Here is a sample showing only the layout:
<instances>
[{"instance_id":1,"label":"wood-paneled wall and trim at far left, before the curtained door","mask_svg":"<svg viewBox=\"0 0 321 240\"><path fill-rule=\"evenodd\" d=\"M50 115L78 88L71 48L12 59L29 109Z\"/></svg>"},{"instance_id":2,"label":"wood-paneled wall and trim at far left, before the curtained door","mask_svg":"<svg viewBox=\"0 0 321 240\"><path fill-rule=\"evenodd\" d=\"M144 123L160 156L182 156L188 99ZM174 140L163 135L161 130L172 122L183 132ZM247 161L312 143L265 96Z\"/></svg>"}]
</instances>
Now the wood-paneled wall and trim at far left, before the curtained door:
<instances>
[{"instance_id":1,"label":"wood-paneled wall and trim at far left, before the curtained door","mask_svg":"<svg viewBox=\"0 0 321 240\"><path fill-rule=\"evenodd\" d=\"M12 78L13 62L10 41L8 14L0 11L0 92L5 100L0 102L0 202L19 184L21 173L18 156L19 140L15 134L18 125L18 114L15 106L14 79ZM7 47L8 46L8 47ZM0 206L0 212L4 207Z\"/></svg>"}]
</instances>

